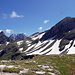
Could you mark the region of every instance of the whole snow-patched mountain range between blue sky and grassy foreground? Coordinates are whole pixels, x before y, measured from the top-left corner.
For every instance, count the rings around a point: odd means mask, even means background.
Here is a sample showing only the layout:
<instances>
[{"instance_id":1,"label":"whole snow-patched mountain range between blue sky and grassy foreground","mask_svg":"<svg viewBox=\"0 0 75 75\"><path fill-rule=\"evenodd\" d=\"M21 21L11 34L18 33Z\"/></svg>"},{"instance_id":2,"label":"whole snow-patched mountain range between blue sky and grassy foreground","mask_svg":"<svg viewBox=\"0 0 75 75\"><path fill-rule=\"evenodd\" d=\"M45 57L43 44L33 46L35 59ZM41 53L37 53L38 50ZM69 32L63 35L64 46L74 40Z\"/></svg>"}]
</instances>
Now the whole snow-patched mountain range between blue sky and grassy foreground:
<instances>
[{"instance_id":1,"label":"whole snow-patched mountain range between blue sky and grassy foreground","mask_svg":"<svg viewBox=\"0 0 75 75\"><path fill-rule=\"evenodd\" d=\"M11 41L3 32L0 37L0 43ZM0 45L0 59L26 59L26 56L30 58L36 54L75 54L75 18L66 17L51 29L29 37L13 34L11 38L17 41Z\"/></svg>"}]
</instances>

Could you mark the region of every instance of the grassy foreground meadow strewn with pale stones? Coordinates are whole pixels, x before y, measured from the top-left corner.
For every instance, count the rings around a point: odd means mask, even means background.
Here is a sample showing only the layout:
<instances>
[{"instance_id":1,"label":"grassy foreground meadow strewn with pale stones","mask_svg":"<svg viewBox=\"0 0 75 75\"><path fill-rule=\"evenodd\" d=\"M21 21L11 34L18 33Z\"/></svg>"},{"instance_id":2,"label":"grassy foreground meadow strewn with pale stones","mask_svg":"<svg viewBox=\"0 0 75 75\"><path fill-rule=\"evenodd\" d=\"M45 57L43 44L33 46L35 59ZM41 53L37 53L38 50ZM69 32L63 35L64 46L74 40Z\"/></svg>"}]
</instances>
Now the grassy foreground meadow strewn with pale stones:
<instances>
[{"instance_id":1,"label":"grassy foreground meadow strewn with pale stones","mask_svg":"<svg viewBox=\"0 0 75 75\"><path fill-rule=\"evenodd\" d=\"M1 60L0 75L75 75L75 55L37 55L27 60Z\"/></svg>"}]
</instances>

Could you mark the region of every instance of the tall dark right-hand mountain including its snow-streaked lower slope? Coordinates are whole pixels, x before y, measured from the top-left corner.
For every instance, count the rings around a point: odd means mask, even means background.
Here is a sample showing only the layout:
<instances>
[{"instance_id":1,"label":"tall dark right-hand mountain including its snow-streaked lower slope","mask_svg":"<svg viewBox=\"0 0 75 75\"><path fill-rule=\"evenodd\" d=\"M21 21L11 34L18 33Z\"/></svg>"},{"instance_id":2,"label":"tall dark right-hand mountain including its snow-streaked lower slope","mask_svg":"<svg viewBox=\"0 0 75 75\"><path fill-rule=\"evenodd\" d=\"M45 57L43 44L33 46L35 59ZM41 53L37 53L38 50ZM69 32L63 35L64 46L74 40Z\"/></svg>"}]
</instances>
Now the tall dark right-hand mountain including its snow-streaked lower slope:
<instances>
[{"instance_id":1,"label":"tall dark right-hand mountain including its snow-streaked lower slope","mask_svg":"<svg viewBox=\"0 0 75 75\"><path fill-rule=\"evenodd\" d=\"M75 54L75 18L66 17L31 39L33 44L24 51L26 55Z\"/></svg>"}]
</instances>

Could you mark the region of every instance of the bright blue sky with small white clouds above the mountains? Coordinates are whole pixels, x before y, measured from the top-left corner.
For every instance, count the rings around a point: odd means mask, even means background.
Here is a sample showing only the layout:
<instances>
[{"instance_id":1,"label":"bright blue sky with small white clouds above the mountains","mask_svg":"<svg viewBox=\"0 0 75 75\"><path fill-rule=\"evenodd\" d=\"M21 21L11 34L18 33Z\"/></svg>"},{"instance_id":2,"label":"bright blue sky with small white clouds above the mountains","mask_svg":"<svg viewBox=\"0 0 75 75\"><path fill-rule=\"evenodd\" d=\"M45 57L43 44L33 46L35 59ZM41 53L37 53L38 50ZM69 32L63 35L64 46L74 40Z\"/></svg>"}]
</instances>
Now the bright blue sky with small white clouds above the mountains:
<instances>
[{"instance_id":1,"label":"bright blue sky with small white clouds above the mountains","mask_svg":"<svg viewBox=\"0 0 75 75\"><path fill-rule=\"evenodd\" d=\"M31 35L75 17L75 0L0 0L0 30Z\"/></svg>"}]
</instances>

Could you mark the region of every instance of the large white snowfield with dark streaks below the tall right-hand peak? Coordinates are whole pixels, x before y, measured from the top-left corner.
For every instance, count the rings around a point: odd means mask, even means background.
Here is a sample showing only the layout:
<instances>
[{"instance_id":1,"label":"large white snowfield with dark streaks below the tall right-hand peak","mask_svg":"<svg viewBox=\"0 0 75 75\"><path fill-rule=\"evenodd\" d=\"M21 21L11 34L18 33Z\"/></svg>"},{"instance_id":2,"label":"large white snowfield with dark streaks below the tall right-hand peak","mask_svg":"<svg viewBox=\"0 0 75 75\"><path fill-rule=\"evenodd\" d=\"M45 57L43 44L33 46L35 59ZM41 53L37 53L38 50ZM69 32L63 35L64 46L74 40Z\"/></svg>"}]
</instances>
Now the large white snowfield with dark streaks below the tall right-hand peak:
<instances>
[{"instance_id":1,"label":"large white snowfield with dark streaks below the tall right-hand peak","mask_svg":"<svg viewBox=\"0 0 75 75\"><path fill-rule=\"evenodd\" d=\"M33 55L33 54L39 54L39 55L51 55L51 54L75 54L75 41L73 45L71 46L72 40L68 45L65 46L64 50L59 51L59 44L61 40L46 40L46 41L38 41L38 43L31 45L28 47L27 50L25 50L26 55ZM70 47L71 46L71 47Z\"/></svg>"}]
</instances>

